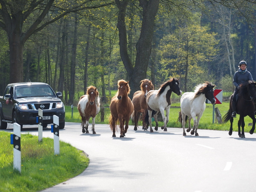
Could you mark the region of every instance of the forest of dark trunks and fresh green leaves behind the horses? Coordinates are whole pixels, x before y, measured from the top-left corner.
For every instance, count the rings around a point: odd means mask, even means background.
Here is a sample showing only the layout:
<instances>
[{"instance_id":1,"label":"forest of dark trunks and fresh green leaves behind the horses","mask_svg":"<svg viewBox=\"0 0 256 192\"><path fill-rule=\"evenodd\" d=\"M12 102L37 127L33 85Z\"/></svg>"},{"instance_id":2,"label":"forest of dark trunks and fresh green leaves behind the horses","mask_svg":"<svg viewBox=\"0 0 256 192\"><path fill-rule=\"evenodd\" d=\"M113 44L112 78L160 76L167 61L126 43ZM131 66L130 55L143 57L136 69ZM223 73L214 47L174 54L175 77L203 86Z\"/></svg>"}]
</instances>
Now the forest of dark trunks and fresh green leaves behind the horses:
<instances>
[{"instance_id":1,"label":"forest of dark trunks and fresh green leaves behind the horses","mask_svg":"<svg viewBox=\"0 0 256 192\"><path fill-rule=\"evenodd\" d=\"M241 60L256 80L255 10L253 0L0 0L0 95L40 81L66 105L90 85L109 102L120 79L132 97L140 80L157 89L172 77L183 92L204 81L233 92Z\"/></svg>"}]
</instances>

